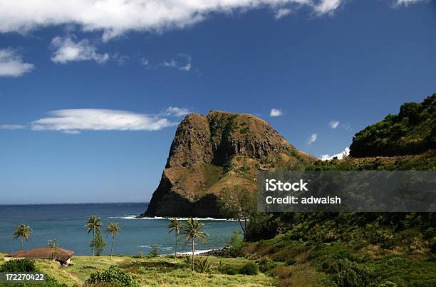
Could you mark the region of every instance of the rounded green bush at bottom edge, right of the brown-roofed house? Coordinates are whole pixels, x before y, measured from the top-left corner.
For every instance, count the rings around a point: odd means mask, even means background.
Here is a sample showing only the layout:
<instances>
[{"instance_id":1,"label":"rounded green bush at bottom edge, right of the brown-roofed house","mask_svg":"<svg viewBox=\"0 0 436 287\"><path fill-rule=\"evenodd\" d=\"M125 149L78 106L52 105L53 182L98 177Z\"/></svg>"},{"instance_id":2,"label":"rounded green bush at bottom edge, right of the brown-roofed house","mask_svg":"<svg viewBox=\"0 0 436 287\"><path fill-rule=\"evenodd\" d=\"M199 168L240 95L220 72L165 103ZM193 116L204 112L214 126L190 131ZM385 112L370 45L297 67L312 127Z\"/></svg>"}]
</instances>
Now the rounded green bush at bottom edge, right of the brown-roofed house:
<instances>
[{"instance_id":1,"label":"rounded green bush at bottom edge, right of the brown-roofed house","mask_svg":"<svg viewBox=\"0 0 436 287\"><path fill-rule=\"evenodd\" d=\"M124 270L116 267L111 267L105 271L94 272L90 275L90 278L85 282L86 284L95 283L114 283L122 286L139 287L139 284L126 273Z\"/></svg>"}]
</instances>

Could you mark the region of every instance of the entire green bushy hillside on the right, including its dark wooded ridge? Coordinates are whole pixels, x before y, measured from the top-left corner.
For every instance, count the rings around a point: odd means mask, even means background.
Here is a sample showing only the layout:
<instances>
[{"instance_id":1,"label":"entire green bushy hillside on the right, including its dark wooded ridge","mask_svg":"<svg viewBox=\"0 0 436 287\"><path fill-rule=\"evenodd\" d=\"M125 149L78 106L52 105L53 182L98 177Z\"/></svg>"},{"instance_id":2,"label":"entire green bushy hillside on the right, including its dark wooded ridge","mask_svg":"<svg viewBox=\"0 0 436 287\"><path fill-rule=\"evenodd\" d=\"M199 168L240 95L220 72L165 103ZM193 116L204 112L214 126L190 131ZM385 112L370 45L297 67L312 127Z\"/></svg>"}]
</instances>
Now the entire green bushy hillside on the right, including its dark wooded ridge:
<instances>
[{"instance_id":1,"label":"entire green bushy hillside on the right, including its dark wooded ridge","mask_svg":"<svg viewBox=\"0 0 436 287\"><path fill-rule=\"evenodd\" d=\"M351 156L306 170L436 170L435 111L436 94L403 104L355 134ZM253 213L245 241L281 286L436 286L435 213Z\"/></svg>"}]
</instances>

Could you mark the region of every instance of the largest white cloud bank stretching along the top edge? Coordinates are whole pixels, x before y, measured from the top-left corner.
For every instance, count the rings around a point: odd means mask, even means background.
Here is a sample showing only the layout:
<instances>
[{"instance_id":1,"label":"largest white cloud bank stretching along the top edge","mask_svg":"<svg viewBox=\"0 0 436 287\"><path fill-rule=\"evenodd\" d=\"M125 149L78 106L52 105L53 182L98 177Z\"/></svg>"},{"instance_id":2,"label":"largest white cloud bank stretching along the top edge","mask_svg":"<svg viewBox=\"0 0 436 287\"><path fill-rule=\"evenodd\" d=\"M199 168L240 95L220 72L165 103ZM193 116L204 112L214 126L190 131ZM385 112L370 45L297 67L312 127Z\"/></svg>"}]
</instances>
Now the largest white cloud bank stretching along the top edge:
<instances>
[{"instance_id":1,"label":"largest white cloud bank stretching along the top edge","mask_svg":"<svg viewBox=\"0 0 436 287\"><path fill-rule=\"evenodd\" d=\"M324 14L340 4L341 0L11 0L0 1L0 33L76 24L83 31L103 31L108 40L127 31L181 29L217 13L306 6Z\"/></svg>"}]
</instances>

